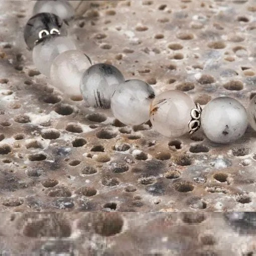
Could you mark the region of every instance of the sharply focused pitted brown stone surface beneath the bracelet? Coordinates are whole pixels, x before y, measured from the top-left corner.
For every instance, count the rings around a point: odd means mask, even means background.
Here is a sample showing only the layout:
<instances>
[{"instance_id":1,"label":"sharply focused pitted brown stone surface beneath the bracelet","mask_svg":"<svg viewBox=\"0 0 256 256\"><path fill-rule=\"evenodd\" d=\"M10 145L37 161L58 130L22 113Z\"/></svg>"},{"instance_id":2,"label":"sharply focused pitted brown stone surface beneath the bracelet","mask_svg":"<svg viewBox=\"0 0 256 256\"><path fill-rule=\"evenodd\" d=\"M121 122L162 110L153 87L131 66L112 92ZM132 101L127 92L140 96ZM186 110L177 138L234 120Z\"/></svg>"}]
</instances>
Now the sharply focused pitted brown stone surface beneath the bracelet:
<instances>
[{"instance_id":1,"label":"sharply focused pitted brown stone surface beneath the bracelet","mask_svg":"<svg viewBox=\"0 0 256 256\"><path fill-rule=\"evenodd\" d=\"M67 99L35 68L23 41L34 2L0 5L1 211L256 210L250 127L230 145L200 130L169 140L150 122L123 125L110 110ZM112 64L156 94L185 91L201 105L225 95L247 107L256 93L254 1L72 5L69 36L93 64Z\"/></svg>"}]
</instances>

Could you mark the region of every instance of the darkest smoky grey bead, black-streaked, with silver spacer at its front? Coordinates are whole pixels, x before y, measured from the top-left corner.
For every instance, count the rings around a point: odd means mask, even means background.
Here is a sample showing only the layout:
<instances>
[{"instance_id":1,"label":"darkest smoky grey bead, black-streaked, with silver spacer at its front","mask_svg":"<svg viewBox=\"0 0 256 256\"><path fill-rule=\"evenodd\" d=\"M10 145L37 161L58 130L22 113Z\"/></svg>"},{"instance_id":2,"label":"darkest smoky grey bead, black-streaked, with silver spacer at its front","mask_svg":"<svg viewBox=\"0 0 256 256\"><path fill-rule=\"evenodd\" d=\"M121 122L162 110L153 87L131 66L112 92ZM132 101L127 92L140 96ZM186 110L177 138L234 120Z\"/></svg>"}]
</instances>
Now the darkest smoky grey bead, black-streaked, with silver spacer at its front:
<instances>
[{"instance_id":1,"label":"darkest smoky grey bead, black-streaked, with silver spacer at its front","mask_svg":"<svg viewBox=\"0 0 256 256\"><path fill-rule=\"evenodd\" d=\"M55 14L40 13L29 19L24 29L24 39L31 50L40 37L58 34L57 31L60 35L66 36L67 25Z\"/></svg>"}]
</instances>

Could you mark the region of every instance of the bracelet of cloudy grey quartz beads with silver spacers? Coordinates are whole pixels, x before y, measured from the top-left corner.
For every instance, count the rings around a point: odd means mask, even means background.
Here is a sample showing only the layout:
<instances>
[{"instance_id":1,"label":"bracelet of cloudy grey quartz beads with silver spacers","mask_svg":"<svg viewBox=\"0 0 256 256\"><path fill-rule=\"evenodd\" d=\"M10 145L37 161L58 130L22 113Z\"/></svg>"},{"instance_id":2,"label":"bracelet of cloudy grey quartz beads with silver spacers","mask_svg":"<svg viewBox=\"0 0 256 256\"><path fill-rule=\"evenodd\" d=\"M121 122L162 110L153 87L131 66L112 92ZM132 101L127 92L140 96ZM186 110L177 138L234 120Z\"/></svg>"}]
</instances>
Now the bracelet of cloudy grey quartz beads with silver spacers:
<instances>
[{"instance_id":1,"label":"bracelet of cloudy grey quartz beads with silver spacers","mask_svg":"<svg viewBox=\"0 0 256 256\"><path fill-rule=\"evenodd\" d=\"M33 12L24 38L33 49L34 64L71 98L82 94L87 106L111 108L114 117L127 125L150 119L156 131L171 138L192 134L202 126L209 140L226 144L243 136L248 121L256 131L256 95L247 112L231 97L217 97L202 110L182 91L168 90L155 96L146 82L125 80L109 64L92 65L90 58L76 49L67 37L68 21L74 17L68 1L37 1Z\"/></svg>"}]
</instances>

